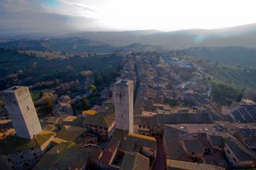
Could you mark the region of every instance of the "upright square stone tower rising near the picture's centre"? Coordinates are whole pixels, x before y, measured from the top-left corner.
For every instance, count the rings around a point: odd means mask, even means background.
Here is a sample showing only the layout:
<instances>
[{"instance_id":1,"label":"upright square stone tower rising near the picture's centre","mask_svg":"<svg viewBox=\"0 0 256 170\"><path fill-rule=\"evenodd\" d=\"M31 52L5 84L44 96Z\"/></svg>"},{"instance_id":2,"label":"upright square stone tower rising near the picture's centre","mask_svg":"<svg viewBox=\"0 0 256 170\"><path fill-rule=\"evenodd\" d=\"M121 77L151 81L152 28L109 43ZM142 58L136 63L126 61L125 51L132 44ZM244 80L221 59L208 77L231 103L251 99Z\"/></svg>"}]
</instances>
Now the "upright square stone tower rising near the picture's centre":
<instances>
[{"instance_id":1,"label":"upright square stone tower rising near the picture's centre","mask_svg":"<svg viewBox=\"0 0 256 170\"><path fill-rule=\"evenodd\" d=\"M133 81L120 79L114 85L116 128L133 132Z\"/></svg>"}]
</instances>

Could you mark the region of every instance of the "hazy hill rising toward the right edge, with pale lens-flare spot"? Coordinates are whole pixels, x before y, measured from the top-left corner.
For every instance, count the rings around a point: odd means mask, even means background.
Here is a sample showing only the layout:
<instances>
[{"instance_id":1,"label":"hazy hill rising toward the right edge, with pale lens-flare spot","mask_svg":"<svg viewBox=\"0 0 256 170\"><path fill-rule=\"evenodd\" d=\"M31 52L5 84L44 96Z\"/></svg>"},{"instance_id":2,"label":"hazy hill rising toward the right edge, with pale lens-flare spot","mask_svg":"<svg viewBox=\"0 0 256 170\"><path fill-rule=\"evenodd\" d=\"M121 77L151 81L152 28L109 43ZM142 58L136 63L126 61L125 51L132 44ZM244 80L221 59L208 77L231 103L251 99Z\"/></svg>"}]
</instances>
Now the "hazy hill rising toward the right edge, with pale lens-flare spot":
<instances>
[{"instance_id":1,"label":"hazy hill rising toward the right edge, with pale lens-flare spot","mask_svg":"<svg viewBox=\"0 0 256 170\"><path fill-rule=\"evenodd\" d=\"M256 47L256 23L216 30L179 30L143 35L138 42L166 47Z\"/></svg>"}]
</instances>

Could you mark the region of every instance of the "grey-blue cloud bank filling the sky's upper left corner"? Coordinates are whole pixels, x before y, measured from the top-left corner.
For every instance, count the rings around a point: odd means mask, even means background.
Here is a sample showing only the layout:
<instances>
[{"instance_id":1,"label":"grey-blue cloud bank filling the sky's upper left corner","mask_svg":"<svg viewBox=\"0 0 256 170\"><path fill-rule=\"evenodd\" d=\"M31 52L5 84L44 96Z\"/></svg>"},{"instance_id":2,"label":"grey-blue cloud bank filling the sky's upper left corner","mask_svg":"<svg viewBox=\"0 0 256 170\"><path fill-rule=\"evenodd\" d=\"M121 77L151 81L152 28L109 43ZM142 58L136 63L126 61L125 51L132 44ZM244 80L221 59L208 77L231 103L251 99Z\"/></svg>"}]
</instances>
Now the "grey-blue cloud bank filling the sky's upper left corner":
<instances>
[{"instance_id":1,"label":"grey-blue cloud bank filling the sky's upper left corner","mask_svg":"<svg viewBox=\"0 0 256 170\"><path fill-rule=\"evenodd\" d=\"M94 12L82 4L58 3L48 4L43 0L2 0L0 4L1 34L9 33L52 33L64 34L77 30L94 30L96 19L86 12ZM3 32L6 30L6 32Z\"/></svg>"}]
</instances>

